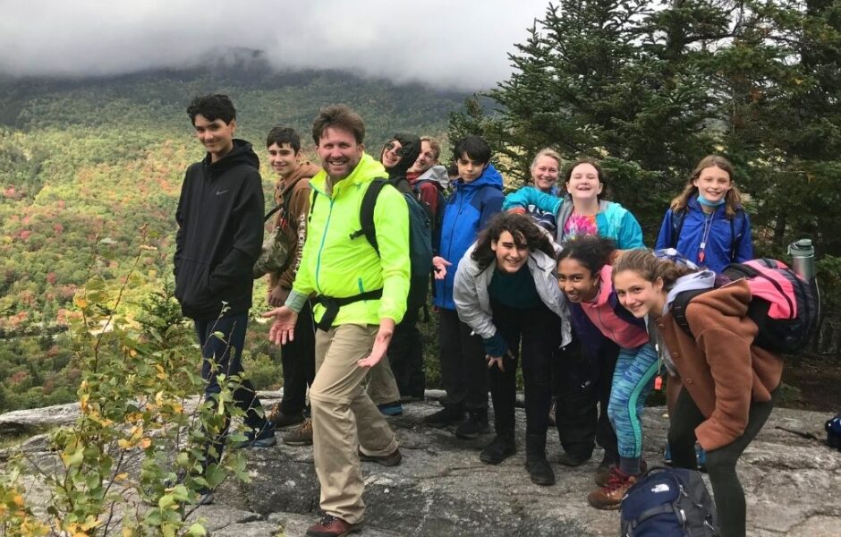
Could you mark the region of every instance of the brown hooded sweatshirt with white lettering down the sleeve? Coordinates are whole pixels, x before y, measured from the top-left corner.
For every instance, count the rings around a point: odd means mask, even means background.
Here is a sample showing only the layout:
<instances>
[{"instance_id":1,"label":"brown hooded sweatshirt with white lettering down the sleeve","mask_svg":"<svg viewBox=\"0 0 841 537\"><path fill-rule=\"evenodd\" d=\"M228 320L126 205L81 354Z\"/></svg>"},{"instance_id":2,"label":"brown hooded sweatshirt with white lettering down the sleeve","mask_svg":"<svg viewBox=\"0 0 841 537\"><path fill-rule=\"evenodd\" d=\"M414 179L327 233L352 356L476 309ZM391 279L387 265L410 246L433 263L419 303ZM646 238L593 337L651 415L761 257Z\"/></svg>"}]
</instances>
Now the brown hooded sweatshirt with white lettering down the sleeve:
<instances>
[{"instance_id":1,"label":"brown hooded sweatshirt with white lettering down the sleeve","mask_svg":"<svg viewBox=\"0 0 841 537\"><path fill-rule=\"evenodd\" d=\"M295 256L284 272L268 275L270 289L278 285L292 289L295 275L301 268L303 244L307 240L307 215L310 214L310 178L320 171L320 166L304 161L293 175L280 179L275 185L275 204L283 205L283 209L277 211L275 226L287 235Z\"/></svg>"}]
</instances>

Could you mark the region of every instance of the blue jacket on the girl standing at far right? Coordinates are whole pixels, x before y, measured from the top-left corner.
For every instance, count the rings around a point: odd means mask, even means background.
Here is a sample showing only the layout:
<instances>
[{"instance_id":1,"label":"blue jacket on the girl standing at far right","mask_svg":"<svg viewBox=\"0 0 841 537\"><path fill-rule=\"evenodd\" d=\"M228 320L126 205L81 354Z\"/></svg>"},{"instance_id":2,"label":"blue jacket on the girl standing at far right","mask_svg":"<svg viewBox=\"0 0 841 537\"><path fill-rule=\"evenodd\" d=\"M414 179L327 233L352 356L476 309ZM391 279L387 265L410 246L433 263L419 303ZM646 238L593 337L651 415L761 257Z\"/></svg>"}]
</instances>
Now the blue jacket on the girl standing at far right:
<instances>
[{"instance_id":1,"label":"blue jacket on the girl standing at far right","mask_svg":"<svg viewBox=\"0 0 841 537\"><path fill-rule=\"evenodd\" d=\"M687 203L689 210L684 213L684 225L680 227L680 236L675 243L676 218L672 209L666 211L660 234L657 237L655 249L671 248L681 252L684 257L720 273L730 263L741 263L753 259L753 239L751 236L751 219L743 209L739 209L735 217L728 218L725 206L721 205L712 213L712 222L705 226L707 216L701 209L701 203L694 197ZM704 258L701 260L701 242L704 229L709 228L707 244L704 248Z\"/></svg>"}]
</instances>

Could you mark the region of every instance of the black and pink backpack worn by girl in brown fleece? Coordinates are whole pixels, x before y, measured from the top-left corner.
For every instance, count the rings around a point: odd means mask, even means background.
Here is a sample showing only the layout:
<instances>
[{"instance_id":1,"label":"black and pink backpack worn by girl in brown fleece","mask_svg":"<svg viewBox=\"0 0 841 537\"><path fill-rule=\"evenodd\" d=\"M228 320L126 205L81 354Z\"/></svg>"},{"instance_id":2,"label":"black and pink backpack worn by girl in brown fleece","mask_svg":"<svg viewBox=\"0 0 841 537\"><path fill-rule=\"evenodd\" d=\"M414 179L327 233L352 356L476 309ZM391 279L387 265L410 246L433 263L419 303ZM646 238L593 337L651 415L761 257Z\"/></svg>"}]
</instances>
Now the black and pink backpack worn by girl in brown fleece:
<instances>
[{"instance_id":1,"label":"black and pink backpack worn by girl in brown fleece","mask_svg":"<svg viewBox=\"0 0 841 537\"><path fill-rule=\"evenodd\" d=\"M730 281L744 278L751 288L748 316L760 328L754 345L782 354L800 354L808 348L818 328L816 287L778 260L732 263L725 268L723 276ZM686 306L693 297L705 291L709 289L685 291L672 303L672 317L690 336L692 330L686 321Z\"/></svg>"}]
</instances>

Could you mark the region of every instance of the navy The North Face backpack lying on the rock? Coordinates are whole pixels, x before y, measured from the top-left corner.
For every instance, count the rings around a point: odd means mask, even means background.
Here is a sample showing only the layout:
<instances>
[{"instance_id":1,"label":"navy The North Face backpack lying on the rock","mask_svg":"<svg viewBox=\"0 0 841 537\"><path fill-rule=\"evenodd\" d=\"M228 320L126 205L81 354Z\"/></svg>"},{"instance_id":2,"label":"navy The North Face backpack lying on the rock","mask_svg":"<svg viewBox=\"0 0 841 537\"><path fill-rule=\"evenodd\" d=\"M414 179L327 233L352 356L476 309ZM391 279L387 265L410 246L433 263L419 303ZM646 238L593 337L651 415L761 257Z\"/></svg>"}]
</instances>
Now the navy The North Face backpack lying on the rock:
<instances>
[{"instance_id":1,"label":"navy The North Face backpack lying on the rock","mask_svg":"<svg viewBox=\"0 0 841 537\"><path fill-rule=\"evenodd\" d=\"M619 507L622 537L713 537L716 504L701 473L651 468L625 492Z\"/></svg>"}]
</instances>

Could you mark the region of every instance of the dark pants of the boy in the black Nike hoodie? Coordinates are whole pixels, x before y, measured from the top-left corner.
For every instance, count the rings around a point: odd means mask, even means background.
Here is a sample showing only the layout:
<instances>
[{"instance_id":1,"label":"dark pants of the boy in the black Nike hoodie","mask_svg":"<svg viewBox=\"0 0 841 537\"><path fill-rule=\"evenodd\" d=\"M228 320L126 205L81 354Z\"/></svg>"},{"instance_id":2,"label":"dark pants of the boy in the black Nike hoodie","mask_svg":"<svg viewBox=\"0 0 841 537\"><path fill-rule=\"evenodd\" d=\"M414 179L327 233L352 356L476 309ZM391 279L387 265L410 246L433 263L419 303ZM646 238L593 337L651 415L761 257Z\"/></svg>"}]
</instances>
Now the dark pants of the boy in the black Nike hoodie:
<instances>
[{"instance_id":1,"label":"dark pants of the boy in the black Nike hoodie","mask_svg":"<svg viewBox=\"0 0 841 537\"><path fill-rule=\"evenodd\" d=\"M199 336L199 345L201 345L201 378L207 382L204 395L205 399L210 399L222 391L217 380L218 374L225 373L225 376L230 377L242 373L242 345L245 344L248 313L213 320L197 319L194 322L196 334ZM215 332L221 332L222 339L214 336ZM250 380L242 380L240 386L234 390L234 405L245 412L247 427L261 430L266 424L266 418L261 415L262 405ZM225 446L228 422L230 422L229 418L225 422L221 435L213 439L218 456L222 456L222 448Z\"/></svg>"}]
</instances>

